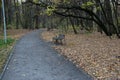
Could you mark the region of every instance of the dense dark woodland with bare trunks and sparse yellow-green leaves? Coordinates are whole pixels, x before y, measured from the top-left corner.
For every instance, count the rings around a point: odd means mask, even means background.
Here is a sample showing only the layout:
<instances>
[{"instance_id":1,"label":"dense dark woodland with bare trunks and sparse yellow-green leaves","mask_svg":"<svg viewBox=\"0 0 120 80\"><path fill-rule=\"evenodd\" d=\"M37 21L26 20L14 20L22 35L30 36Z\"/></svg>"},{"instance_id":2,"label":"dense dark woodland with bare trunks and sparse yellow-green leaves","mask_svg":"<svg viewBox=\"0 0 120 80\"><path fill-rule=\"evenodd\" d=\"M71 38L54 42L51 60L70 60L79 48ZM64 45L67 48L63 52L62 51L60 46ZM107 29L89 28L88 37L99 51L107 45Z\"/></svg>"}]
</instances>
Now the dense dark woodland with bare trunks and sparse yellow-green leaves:
<instances>
[{"instance_id":1,"label":"dense dark woodland with bare trunks and sparse yellow-green leaves","mask_svg":"<svg viewBox=\"0 0 120 80\"><path fill-rule=\"evenodd\" d=\"M7 29L98 31L120 38L119 0L4 0ZM0 1L0 29L3 30Z\"/></svg>"}]
</instances>

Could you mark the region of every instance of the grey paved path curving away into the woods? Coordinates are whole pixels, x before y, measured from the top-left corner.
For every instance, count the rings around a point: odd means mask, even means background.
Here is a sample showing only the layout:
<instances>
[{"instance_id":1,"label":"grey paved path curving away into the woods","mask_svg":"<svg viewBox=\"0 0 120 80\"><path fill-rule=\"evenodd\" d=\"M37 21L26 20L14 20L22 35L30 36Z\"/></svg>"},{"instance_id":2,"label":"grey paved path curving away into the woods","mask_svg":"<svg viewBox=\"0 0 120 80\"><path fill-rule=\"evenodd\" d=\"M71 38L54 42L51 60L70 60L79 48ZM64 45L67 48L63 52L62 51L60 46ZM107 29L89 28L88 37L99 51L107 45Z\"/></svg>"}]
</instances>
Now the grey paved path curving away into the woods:
<instances>
[{"instance_id":1,"label":"grey paved path curving away into the woods","mask_svg":"<svg viewBox=\"0 0 120 80\"><path fill-rule=\"evenodd\" d=\"M2 80L92 80L42 41L40 33L19 40Z\"/></svg>"}]
</instances>

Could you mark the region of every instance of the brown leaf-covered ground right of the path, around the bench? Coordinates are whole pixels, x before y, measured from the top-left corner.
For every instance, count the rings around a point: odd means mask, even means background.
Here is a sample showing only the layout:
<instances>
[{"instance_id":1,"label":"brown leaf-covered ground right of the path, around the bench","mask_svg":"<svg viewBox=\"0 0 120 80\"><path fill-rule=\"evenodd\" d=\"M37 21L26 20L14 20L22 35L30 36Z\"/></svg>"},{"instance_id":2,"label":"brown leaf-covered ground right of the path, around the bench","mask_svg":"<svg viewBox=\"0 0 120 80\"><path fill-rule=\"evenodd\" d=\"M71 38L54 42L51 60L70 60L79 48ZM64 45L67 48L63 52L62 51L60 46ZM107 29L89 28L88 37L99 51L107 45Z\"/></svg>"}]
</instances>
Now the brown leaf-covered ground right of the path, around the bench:
<instances>
[{"instance_id":1,"label":"brown leaf-covered ground right of the path, around the bench","mask_svg":"<svg viewBox=\"0 0 120 80\"><path fill-rule=\"evenodd\" d=\"M58 31L45 31L42 37L47 42ZM120 80L120 39L100 33L65 34L65 45L53 45L77 67L83 68L95 80Z\"/></svg>"}]
</instances>

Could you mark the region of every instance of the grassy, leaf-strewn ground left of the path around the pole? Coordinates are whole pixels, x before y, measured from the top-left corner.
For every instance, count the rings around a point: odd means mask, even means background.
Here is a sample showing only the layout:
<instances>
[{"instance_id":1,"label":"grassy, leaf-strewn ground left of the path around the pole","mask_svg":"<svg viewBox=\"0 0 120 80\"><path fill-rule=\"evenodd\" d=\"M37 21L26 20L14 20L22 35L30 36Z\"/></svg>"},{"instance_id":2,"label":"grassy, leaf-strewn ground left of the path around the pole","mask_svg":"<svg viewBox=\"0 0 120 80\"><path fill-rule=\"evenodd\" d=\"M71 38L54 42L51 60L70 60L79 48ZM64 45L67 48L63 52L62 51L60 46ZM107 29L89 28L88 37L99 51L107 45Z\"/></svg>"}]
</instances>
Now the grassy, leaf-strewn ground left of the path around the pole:
<instances>
[{"instance_id":1,"label":"grassy, leaf-strewn ground left of the path around the pole","mask_svg":"<svg viewBox=\"0 0 120 80\"><path fill-rule=\"evenodd\" d=\"M14 40L11 44L9 45L4 45L3 42L0 42L0 72L2 71L4 64L9 56L9 52L13 48L16 40L18 40L21 36L24 34L28 33L29 30L24 30L24 29L18 29L18 30L7 30L7 38L10 38ZM0 40L2 40L3 37L3 32L0 31Z\"/></svg>"}]
</instances>

